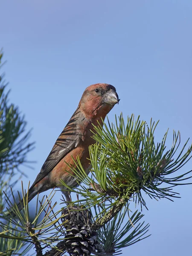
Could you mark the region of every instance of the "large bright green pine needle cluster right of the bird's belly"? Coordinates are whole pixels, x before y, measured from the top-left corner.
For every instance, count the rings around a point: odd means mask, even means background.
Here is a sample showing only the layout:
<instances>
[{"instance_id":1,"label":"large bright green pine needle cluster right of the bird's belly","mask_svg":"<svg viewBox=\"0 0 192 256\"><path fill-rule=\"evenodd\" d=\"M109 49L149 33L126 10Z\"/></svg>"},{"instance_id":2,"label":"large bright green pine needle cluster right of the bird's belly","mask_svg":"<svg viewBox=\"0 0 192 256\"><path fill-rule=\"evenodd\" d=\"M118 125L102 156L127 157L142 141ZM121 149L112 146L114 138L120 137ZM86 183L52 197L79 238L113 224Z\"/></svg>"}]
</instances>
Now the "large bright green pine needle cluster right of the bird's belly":
<instances>
[{"instance_id":1,"label":"large bright green pine needle cluster right of the bird's belly","mask_svg":"<svg viewBox=\"0 0 192 256\"><path fill-rule=\"evenodd\" d=\"M145 205L142 192L156 199L178 197L172 188L187 184L185 180L191 177L192 170L174 174L192 157L192 145L187 148L187 140L179 151L180 133L175 131L171 148L166 148L168 131L160 143L155 143L157 124L151 120L147 125L139 117L134 121L133 115L125 124L121 115L115 125L108 122L103 127L94 126L93 138L97 143L90 146L91 177L86 177L79 160L77 170L71 167L80 186L69 189L86 198L82 204L88 201L89 206L94 206L111 198L115 204L121 198L134 198Z\"/></svg>"}]
</instances>

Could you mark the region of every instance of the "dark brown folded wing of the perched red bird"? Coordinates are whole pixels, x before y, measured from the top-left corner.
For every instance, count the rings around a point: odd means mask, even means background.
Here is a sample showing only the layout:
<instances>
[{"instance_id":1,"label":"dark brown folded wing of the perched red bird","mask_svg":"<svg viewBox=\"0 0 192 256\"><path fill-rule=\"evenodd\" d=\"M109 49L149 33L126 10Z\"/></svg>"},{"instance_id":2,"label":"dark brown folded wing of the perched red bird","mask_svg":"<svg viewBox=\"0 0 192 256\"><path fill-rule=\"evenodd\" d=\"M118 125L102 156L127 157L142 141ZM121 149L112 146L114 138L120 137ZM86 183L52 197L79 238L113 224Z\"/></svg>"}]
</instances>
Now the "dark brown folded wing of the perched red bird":
<instances>
[{"instance_id":1,"label":"dark brown folded wing of the perched red bird","mask_svg":"<svg viewBox=\"0 0 192 256\"><path fill-rule=\"evenodd\" d=\"M79 130L78 123L82 121L81 119L81 113L77 108L70 121L56 140L55 145L31 187L35 186L35 184L46 177L62 158L79 145L79 141L82 138L82 131Z\"/></svg>"}]
</instances>

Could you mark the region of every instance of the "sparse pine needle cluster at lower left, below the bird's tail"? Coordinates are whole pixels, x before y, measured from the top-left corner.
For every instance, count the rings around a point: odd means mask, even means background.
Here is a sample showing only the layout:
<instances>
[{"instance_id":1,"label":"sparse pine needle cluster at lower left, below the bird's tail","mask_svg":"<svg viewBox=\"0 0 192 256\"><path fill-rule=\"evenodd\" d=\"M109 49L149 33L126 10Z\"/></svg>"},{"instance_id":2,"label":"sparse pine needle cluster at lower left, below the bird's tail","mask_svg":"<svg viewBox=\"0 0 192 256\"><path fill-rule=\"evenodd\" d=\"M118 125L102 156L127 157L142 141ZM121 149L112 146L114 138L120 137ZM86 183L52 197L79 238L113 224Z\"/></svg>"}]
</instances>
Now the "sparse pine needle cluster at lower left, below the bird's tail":
<instances>
[{"instance_id":1,"label":"sparse pine needle cluster at lower left, below the bird's tail","mask_svg":"<svg viewBox=\"0 0 192 256\"><path fill-rule=\"evenodd\" d=\"M29 189L29 187L28 187ZM64 239L62 235L61 226L61 209L55 212L55 206L57 203L52 205L52 198L54 197L55 192L53 190L50 192L49 196L46 198L43 197L41 201L37 196L36 209L35 209L35 218L30 218L29 206L28 206L28 192L23 189L22 184L22 198L18 193L19 201L23 201L24 207L21 211L18 210L16 204L16 198L12 192L12 198L14 203L5 195L6 202L8 205L7 211L9 215L3 214L1 216L5 220L8 220L13 226L17 227L17 230L20 230L20 237L18 236L9 236L9 224L5 224L3 221L0 221L0 226L3 227L4 233L0 234L0 237L5 237L8 239L19 239L32 243L32 241L38 241L39 244L44 244L45 247L51 248L52 243ZM11 211L9 210L11 209ZM27 224L27 225L26 225ZM30 225L30 228L28 227ZM6 233L5 233L6 232ZM7 235L8 233L8 235ZM22 234L22 236L21 236ZM32 240L31 240L32 239Z\"/></svg>"}]
</instances>

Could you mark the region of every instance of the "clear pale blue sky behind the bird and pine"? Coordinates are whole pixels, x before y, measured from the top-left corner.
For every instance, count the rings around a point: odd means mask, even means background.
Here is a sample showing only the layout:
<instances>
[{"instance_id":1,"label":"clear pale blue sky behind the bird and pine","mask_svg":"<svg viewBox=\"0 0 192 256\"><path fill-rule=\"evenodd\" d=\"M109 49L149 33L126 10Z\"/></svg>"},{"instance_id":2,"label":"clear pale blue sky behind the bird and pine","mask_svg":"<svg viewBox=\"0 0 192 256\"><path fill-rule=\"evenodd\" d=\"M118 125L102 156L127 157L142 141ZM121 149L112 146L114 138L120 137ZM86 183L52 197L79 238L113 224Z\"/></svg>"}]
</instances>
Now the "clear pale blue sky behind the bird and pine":
<instances>
[{"instance_id":1,"label":"clear pale blue sky behind the bird and pine","mask_svg":"<svg viewBox=\"0 0 192 256\"><path fill-rule=\"evenodd\" d=\"M156 139L170 128L168 147L173 129L183 144L192 137L191 0L1 0L0 24L10 102L36 141L28 155L35 169L23 169L26 187L90 84L116 87L121 101L111 122L121 112L160 119ZM182 170L190 169L192 160ZM176 191L182 198L174 203L146 198L151 236L123 249L124 256L191 253L192 185Z\"/></svg>"}]
</instances>

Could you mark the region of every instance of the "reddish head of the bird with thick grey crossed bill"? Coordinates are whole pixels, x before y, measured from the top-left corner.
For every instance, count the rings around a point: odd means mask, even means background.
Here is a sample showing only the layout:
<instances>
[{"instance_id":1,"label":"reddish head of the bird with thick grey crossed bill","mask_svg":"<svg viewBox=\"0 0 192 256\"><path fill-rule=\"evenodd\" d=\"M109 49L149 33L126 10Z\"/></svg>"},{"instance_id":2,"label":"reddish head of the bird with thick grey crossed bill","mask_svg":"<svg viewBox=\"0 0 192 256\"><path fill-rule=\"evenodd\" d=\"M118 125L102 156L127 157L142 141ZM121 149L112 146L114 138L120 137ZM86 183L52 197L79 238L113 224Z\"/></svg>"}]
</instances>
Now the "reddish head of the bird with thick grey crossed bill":
<instances>
[{"instance_id":1,"label":"reddish head of the bird with thick grey crossed bill","mask_svg":"<svg viewBox=\"0 0 192 256\"><path fill-rule=\"evenodd\" d=\"M105 116L119 103L115 87L111 84L92 84L84 90L79 107L88 119Z\"/></svg>"}]
</instances>

